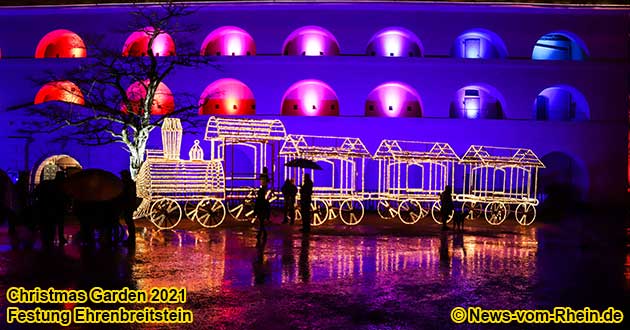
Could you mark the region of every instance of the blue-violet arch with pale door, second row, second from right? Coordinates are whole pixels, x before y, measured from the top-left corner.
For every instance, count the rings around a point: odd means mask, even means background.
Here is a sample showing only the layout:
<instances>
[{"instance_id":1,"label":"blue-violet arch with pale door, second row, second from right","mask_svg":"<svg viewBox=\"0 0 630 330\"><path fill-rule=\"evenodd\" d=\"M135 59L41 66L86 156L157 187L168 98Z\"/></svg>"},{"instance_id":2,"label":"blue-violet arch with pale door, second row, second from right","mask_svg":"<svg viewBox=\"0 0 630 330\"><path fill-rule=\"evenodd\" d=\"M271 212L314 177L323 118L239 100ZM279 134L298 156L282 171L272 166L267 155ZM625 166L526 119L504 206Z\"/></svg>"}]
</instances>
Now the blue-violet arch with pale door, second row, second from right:
<instances>
[{"instance_id":1,"label":"blue-violet arch with pale door, second row, second from right","mask_svg":"<svg viewBox=\"0 0 630 330\"><path fill-rule=\"evenodd\" d=\"M499 91L487 84L472 84L455 93L450 106L451 118L503 119L505 100Z\"/></svg>"}]
</instances>

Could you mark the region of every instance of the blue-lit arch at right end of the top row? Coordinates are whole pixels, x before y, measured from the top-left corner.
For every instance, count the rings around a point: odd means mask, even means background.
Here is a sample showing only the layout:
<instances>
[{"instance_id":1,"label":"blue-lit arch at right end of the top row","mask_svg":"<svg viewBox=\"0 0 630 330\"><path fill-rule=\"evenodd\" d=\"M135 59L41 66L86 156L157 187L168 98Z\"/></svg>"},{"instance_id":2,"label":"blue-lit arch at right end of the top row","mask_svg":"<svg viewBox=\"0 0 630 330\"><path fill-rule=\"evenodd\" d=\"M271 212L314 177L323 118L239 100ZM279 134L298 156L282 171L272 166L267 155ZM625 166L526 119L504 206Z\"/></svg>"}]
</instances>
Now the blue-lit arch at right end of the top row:
<instances>
[{"instance_id":1,"label":"blue-lit arch at right end of the top row","mask_svg":"<svg viewBox=\"0 0 630 330\"><path fill-rule=\"evenodd\" d=\"M532 51L533 60L583 61L588 58L586 44L567 31L547 33L540 37Z\"/></svg>"}]
</instances>

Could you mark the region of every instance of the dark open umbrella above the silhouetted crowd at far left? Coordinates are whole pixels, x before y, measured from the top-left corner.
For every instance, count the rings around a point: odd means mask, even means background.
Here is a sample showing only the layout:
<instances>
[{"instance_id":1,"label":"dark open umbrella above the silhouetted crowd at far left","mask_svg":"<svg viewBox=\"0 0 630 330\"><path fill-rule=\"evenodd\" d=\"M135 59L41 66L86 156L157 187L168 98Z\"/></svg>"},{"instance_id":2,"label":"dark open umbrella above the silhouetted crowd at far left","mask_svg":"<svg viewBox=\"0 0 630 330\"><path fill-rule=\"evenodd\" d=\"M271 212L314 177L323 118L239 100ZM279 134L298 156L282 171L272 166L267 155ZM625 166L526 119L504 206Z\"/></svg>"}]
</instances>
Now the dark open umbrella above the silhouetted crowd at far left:
<instances>
[{"instance_id":1,"label":"dark open umbrella above the silhouetted crowd at far left","mask_svg":"<svg viewBox=\"0 0 630 330\"><path fill-rule=\"evenodd\" d=\"M123 190L120 178L100 169L87 169L72 174L64 183L64 191L72 198L84 202L108 201Z\"/></svg>"}]
</instances>

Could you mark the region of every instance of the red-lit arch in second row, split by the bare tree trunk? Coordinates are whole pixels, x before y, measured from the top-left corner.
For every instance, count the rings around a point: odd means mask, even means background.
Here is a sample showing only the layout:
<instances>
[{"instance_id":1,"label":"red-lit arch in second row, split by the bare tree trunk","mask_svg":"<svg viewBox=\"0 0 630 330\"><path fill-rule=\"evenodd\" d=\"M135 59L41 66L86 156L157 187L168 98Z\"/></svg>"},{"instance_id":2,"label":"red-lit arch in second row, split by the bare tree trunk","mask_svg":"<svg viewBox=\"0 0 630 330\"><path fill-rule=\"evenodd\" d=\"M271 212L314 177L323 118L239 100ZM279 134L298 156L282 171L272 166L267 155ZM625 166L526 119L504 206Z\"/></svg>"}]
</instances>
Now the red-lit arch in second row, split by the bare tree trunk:
<instances>
[{"instance_id":1,"label":"red-lit arch in second row, split by the bare tree trunk","mask_svg":"<svg viewBox=\"0 0 630 330\"><path fill-rule=\"evenodd\" d=\"M148 81L143 83L137 81L127 88L127 98L131 103L131 111L136 114L140 113L142 102L147 97L147 90L145 85ZM123 111L127 111L127 107L123 105ZM166 115L175 111L175 99L170 88L164 83L160 83L153 96L153 104L151 105L152 115Z\"/></svg>"}]
</instances>

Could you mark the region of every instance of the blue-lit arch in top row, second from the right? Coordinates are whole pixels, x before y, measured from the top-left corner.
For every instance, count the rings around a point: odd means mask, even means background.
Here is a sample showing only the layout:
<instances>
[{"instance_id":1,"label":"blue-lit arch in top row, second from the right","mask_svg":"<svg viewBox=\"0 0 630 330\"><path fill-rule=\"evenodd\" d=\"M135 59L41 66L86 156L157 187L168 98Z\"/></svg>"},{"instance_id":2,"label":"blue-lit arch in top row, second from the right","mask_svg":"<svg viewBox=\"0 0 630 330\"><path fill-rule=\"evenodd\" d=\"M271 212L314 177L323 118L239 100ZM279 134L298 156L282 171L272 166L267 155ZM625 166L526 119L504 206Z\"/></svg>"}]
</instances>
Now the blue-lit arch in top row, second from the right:
<instances>
[{"instance_id":1,"label":"blue-lit arch in top row, second from the right","mask_svg":"<svg viewBox=\"0 0 630 330\"><path fill-rule=\"evenodd\" d=\"M506 58L507 48L496 33L486 29L472 29L455 39L451 55L457 58Z\"/></svg>"}]
</instances>

